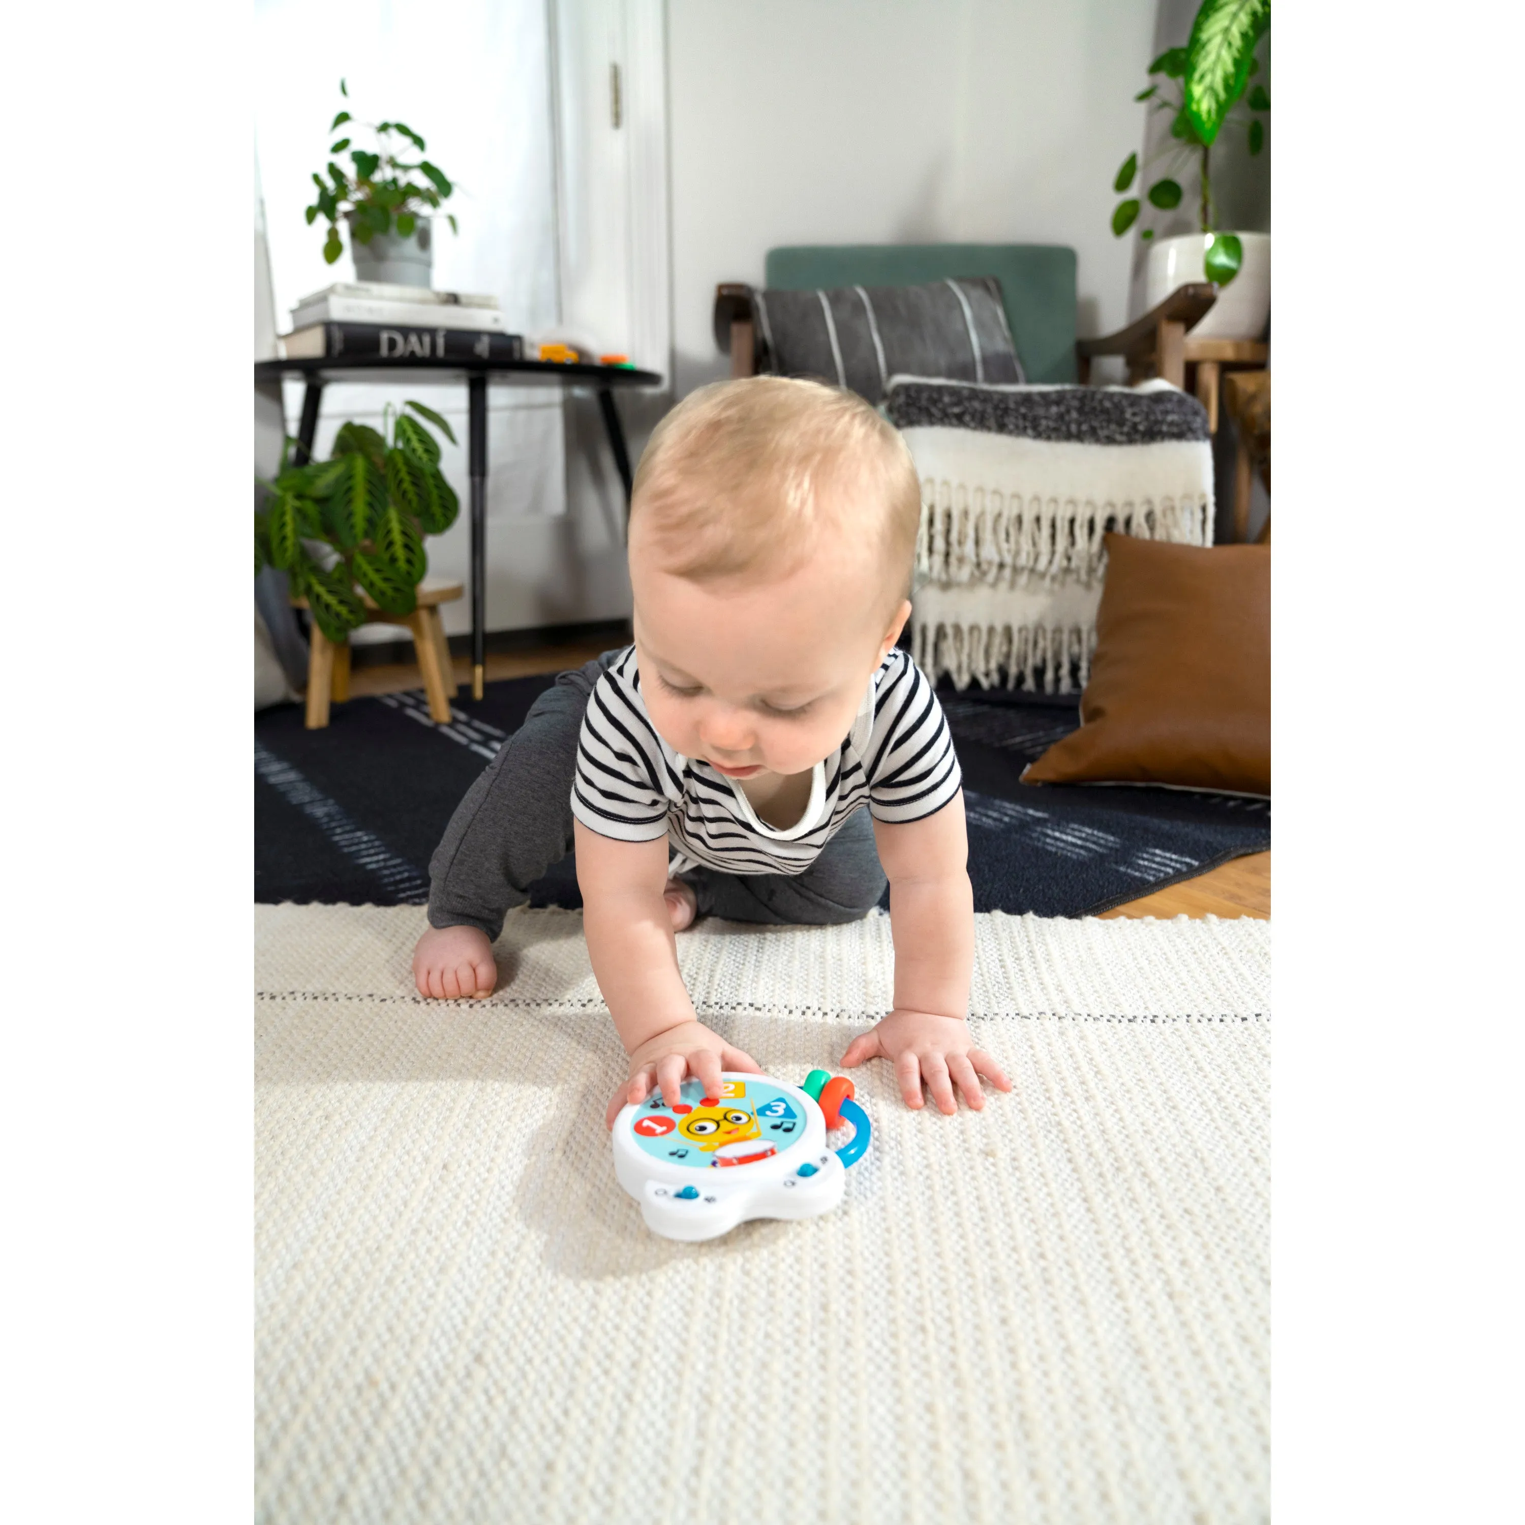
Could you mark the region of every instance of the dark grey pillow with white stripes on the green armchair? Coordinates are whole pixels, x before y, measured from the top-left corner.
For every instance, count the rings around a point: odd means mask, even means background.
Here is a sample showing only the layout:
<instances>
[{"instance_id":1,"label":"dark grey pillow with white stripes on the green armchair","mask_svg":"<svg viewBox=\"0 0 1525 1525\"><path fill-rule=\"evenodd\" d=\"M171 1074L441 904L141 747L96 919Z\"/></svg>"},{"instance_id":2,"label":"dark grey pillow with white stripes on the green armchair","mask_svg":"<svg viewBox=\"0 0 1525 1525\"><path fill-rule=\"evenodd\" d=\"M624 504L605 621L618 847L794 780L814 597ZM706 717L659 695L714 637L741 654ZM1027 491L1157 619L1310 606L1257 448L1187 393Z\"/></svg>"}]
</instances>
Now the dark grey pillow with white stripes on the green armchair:
<instances>
[{"instance_id":1,"label":"dark grey pillow with white stripes on the green armchair","mask_svg":"<svg viewBox=\"0 0 1525 1525\"><path fill-rule=\"evenodd\" d=\"M819 377L878 403L897 372L1022 381L994 276L918 287L753 291L758 371Z\"/></svg>"}]
</instances>

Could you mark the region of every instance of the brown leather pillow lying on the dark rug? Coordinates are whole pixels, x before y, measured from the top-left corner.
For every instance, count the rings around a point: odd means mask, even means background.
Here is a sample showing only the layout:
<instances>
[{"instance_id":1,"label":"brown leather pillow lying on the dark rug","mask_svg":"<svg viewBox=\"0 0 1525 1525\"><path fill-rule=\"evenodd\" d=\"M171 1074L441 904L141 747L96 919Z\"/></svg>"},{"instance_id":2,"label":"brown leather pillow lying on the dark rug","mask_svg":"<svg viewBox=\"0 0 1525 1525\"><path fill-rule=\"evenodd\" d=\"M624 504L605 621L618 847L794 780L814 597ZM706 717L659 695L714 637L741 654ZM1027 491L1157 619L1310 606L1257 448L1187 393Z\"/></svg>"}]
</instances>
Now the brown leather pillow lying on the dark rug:
<instances>
[{"instance_id":1,"label":"brown leather pillow lying on the dark rug","mask_svg":"<svg viewBox=\"0 0 1525 1525\"><path fill-rule=\"evenodd\" d=\"M1107 535L1081 727L1026 784L1270 793L1270 547Z\"/></svg>"}]
</instances>

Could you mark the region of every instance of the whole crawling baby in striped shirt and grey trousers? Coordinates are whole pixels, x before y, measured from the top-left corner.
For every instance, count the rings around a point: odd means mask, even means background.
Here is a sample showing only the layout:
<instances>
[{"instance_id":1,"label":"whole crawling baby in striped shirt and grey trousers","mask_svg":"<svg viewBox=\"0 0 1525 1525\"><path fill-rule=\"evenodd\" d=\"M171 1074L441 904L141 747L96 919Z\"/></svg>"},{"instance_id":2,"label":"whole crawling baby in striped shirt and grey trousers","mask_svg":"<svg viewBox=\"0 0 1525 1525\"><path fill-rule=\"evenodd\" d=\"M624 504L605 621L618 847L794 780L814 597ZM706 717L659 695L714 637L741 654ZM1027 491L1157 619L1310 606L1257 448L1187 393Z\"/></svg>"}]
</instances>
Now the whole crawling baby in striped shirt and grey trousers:
<instances>
[{"instance_id":1,"label":"whole crawling baby in striped shirt and grey trousers","mask_svg":"<svg viewBox=\"0 0 1525 1525\"><path fill-rule=\"evenodd\" d=\"M824 926L889 880L895 1010L843 1066L888 1058L910 1107L984 1106L965 1010L974 947L964 795L932 685L897 648L921 494L900 435L849 392L755 377L657 425L630 509L634 645L529 711L430 863L424 996L493 991L493 939L576 848L583 926L630 1077L758 1071L698 1020L674 933L695 915ZM868 807L863 810L862 807Z\"/></svg>"}]
</instances>

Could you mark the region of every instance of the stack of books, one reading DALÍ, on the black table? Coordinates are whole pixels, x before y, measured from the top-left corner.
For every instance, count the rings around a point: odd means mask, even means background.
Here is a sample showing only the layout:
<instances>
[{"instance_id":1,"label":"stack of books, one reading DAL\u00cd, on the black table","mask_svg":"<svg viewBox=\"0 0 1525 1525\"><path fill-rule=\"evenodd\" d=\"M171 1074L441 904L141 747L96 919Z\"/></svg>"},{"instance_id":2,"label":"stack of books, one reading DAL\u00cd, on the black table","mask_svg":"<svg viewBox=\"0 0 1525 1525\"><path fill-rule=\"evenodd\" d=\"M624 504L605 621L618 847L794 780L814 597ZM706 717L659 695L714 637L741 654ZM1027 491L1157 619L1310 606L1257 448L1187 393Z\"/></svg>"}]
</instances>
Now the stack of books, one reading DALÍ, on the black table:
<instances>
[{"instance_id":1,"label":"stack of books, one reading DAL\u00cd, on the black table","mask_svg":"<svg viewBox=\"0 0 1525 1525\"><path fill-rule=\"evenodd\" d=\"M291 308L287 360L357 364L419 360L523 360L525 340L503 325L496 296L340 281Z\"/></svg>"}]
</instances>

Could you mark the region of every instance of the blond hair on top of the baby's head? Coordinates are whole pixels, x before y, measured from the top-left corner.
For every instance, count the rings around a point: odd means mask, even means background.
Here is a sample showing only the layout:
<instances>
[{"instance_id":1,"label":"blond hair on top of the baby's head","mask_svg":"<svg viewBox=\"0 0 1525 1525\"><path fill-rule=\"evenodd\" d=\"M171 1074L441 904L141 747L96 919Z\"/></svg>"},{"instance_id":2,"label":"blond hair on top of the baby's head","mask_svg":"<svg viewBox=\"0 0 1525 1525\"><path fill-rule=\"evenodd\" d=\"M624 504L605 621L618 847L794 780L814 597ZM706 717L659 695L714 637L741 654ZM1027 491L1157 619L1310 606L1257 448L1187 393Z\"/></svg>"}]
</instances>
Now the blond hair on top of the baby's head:
<instances>
[{"instance_id":1,"label":"blond hair on top of the baby's head","mask_svg":"<svg viewBox=\"0 0 1525 1525\"><path fill-rule=\"evenodd\" d=\"M631 532L676 576L782 575L822 531L878 554L886 596L910 587L921 486L900 432L852 392L788 377L691 392L651 435Z\"/></svg>"}]
</instances>

